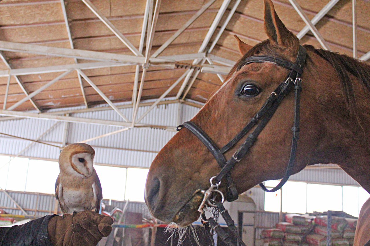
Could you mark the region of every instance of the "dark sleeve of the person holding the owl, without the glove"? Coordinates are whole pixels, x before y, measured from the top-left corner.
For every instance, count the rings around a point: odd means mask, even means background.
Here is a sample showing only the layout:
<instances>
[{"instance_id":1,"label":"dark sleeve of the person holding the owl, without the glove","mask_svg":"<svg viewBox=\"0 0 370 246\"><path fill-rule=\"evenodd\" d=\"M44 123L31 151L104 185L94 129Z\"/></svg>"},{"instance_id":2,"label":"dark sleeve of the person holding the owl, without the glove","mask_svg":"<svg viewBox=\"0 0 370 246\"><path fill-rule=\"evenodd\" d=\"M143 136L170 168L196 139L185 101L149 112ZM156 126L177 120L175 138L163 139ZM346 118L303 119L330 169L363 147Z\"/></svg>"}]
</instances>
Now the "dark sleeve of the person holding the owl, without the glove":
<instances>
[{"instance_id":1,"label":"dark sleeve of the person holding the owl, without the glove","mask_svg":"<svg viewBox=\"0 0 370 246\"><path fill-rule=\"evenodd\" d=\"M52 245L47 225L49 219L57 215L47 215L20 226L0 227L0 246L5 245Z\"/></svg>"}]
</instances>

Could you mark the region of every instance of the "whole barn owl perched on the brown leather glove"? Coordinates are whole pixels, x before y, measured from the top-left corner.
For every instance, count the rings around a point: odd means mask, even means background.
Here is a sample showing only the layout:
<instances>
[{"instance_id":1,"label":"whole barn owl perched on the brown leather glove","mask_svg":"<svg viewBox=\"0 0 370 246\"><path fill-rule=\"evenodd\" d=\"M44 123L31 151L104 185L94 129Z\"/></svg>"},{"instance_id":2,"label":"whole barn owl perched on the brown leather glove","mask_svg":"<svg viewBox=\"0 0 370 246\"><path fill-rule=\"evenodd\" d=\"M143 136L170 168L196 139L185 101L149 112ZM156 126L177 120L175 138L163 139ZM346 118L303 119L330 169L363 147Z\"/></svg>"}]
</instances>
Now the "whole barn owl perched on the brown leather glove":
<instances>
[{"instance_id":1,"label":"whole barn owl perched on the brown leather glove","mask_svg":"<svg viewBox=\"0 0 370 246\"><path fill-rule=\"evenodd\" d=\"M94 155L94 149L85 143L70 144L61 151L55 198L63 214L85 209L99 212L103 195L100 180L92 166Z\"/></svg>"}]
</instances>

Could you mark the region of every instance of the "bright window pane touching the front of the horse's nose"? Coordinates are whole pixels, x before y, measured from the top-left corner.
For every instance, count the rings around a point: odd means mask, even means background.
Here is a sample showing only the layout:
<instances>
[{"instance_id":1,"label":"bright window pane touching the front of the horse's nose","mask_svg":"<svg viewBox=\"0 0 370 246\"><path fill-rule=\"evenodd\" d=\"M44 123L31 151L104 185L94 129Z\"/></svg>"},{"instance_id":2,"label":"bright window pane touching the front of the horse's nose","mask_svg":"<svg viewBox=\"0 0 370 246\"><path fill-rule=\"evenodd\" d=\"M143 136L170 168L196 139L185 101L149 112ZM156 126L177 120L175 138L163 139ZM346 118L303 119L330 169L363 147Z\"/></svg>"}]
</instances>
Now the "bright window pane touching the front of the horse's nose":
<instances>
[{"instance_id":1,"label":"bright window pane touching the front of the horse's nose","mask_svg":"<svg viewBox=\"0 0 370 246\"><path fill-rule=\"evenodd\" d=\"M148 172L148 169L143 168L127 168L126 200L144 202L145 181Z\"/></svg>"}]
</instances>

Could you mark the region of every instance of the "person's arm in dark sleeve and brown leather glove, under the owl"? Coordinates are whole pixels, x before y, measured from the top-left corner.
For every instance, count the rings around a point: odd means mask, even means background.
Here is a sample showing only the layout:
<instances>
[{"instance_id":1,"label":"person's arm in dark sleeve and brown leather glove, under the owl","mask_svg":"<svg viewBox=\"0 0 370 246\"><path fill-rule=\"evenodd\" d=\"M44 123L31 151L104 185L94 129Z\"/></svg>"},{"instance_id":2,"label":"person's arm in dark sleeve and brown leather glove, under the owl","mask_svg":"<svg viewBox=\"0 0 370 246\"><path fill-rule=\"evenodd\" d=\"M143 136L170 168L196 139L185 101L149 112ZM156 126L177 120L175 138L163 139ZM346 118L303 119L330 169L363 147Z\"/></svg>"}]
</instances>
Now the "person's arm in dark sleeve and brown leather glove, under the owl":
<instances>
[{"instance_id":1,"label":"person's arm in dark sleeve and brown leather glove, under the owl","mask_svg":"<svg viewBox=\"0 0 370 246\"><path fill-rule=\"evenodd\" d=\"M113 219L85 210L74 215L47 215L21 226L0 228L0 246L91 245L112 231Z\"/></svg>"}]
</instances>

